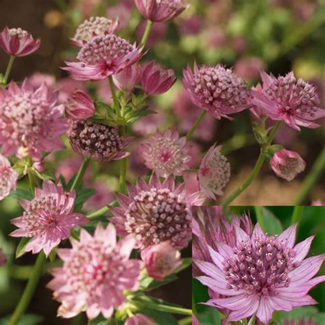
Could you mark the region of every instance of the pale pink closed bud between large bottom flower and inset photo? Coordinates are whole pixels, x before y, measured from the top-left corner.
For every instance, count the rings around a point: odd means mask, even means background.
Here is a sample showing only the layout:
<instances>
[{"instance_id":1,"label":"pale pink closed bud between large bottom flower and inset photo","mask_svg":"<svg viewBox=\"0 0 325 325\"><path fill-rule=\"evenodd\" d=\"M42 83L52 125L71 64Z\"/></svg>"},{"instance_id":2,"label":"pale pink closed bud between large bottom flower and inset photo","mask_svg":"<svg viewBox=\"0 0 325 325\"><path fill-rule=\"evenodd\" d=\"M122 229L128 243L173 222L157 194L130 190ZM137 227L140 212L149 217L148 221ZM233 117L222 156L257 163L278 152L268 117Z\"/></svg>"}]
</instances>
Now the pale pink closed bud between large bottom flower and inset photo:
<instances>
[{"instance_id":1,"label":"pale pink closed bud between large bottom flower and inset photo","mask_svg":"<svg viewBox=\"0 0 325 325\"><path fill-rule=\"evenodd\" d=\"M149 246L141 252L148 275L156 280L163 280L182 265L180 252L169 241Z\"/></svg>"}]
</instances>

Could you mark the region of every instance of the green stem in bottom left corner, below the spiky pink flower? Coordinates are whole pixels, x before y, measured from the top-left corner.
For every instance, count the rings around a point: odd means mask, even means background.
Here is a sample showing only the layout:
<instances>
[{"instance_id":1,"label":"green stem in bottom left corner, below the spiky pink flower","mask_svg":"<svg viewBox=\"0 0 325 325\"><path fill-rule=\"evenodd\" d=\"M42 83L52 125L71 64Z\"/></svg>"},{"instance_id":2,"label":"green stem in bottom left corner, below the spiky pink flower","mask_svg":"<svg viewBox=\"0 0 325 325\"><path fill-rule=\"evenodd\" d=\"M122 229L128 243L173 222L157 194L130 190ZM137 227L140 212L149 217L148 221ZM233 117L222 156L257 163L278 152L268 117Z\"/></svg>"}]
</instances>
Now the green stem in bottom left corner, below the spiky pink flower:
<instances>
[{"instance_id":1,"label":"green stem in bottom left corner, below the spiky pink flower","mask_svg":"<svg viewBox=\"0 0 325 325\"><path fill-rule=\"evenodd\" d=\"M10 317L10 321L9 321L8 325L16 325L19 322L21 315L23 315L23 313L25 313L27 306L29 304L29 301L32 299L32 296L36 289L36 285L38 283L40 275L43 272L43 267L44 267L45 261L46 261L45 254L43 251L41 251L37 256L33 272L27 282L27 286L25 287L23 296L21 296L21 300L19 300L19 303L17 304L16 309L14 310L14 313Z\"/></svg>"}]
</instances>

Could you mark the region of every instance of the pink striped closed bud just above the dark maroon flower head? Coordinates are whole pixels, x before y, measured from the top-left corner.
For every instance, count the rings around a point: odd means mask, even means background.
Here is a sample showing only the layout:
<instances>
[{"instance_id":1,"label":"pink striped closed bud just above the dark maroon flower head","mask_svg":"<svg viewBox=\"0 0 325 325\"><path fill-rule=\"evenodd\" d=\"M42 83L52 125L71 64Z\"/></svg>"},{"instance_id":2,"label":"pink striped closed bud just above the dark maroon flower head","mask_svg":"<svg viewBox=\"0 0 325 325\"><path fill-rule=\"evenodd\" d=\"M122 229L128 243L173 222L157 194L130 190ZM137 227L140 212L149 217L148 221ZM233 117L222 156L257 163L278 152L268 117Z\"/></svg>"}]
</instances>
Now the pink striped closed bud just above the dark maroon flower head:
<instances>
[{"instance_id":1,"label":"pink striped closed bud just above the dark maroon flower head","mask_svg":"<svg viewBox=\"0 0 325 325\"><path fill-rule=\"evenodd\" d=\"M95 114L95 103L87 93L76 90L71 94L65 110L73 119L89 119Z\"/></svg>"}]
</instances>

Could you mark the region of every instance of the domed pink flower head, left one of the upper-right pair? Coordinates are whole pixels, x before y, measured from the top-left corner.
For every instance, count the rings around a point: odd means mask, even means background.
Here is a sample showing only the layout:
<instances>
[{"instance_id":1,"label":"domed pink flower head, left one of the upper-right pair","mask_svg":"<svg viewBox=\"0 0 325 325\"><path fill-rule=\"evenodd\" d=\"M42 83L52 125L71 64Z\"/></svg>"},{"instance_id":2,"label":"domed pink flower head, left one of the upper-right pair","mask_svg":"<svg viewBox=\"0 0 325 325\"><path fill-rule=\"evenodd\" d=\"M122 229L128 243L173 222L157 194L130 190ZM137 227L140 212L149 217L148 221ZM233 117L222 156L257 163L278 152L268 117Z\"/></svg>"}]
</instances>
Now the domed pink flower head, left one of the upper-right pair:
<instances>
[{"instance_id":1,"label":"domed pink flower head, left one of the upper-right pair","mask_svg":"<svg viewBox=\"0 0 325 325\"><path fill-rule=\"evenodd\" d=\"M194 64L183 71L183 84L193 103L216 119L248 108L248 91L239 77L221 64L215 67Z\"/></svg>"}]
</instances>

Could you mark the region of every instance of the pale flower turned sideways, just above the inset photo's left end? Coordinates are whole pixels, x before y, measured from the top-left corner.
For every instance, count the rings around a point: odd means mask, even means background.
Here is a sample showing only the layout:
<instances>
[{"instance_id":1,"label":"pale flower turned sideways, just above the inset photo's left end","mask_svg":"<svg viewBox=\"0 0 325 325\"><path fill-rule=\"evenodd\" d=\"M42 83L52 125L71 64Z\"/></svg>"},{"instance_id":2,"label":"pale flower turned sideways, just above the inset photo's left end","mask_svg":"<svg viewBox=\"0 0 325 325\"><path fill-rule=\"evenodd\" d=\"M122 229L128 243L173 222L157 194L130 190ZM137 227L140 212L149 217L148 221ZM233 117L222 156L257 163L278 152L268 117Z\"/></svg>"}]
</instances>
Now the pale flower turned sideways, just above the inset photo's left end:
<instances>
[{"instance_id":1,"label":"pale flower turned sideways, just above the inset photo's left end","mask_svg":"<svg viewBox=\"0 0 325 325\"><path fill-rule=\"evenodd\" d=\"M213 145L202 159L198 178L200 189L212 200L216 195L223 195L222 191L230 180L230 163L221 155L221 146Z\"/></svg>"}]
</instances>

